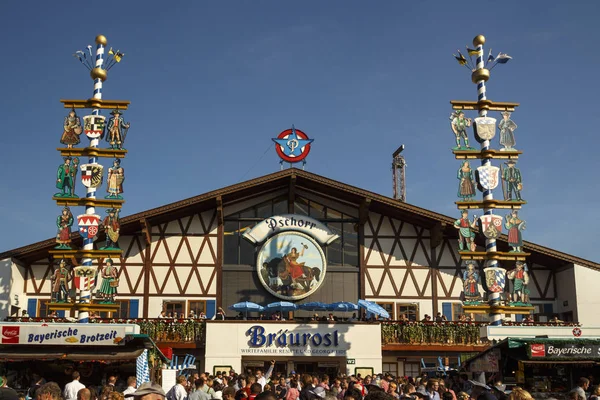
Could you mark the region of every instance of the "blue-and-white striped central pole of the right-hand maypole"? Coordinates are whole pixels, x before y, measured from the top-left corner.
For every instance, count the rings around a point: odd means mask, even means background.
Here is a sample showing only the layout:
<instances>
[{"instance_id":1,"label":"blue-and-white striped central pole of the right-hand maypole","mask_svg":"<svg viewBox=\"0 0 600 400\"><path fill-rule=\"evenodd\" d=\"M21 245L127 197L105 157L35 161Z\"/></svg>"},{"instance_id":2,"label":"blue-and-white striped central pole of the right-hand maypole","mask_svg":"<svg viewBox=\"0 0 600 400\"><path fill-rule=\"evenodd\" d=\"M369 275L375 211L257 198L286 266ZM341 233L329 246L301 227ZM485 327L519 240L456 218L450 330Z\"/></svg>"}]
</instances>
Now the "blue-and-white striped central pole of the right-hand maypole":
<instances>
[{"instance_id":1,"label":"blue-and-white striped central pole of the right-hand maypole","mask_svg":"<svg viewBox=\"0 0 600 400\"><path fill-rule=\"evenodd\" d=\"M475 71L473 72L472 75L472 80L475 84L477 84L477 101L481 102L482 100L487 100L486 95L485 95L485 82L489 79L490 77L490 72L485 69L485 60L484 60L484 55L483 55L483 45L485 43L485 37L483 35L478 35L475 37L475 39L473 39L473 46L475 46L475 49L477 50L477 62L475 64ZM479 116L480 117L485 117L487 116L487 107L481 107L481 104L479 105ZM490 149L490 141L489 140L483 140L481 142L481 151L485 151L485 150L489 150ZM481 158L481 165L482 166L490 166L492 164L492 161L490 158ZM494 199L494 194L490 189L484 189L483 191L483 200L493 200ZM483 213L485 215L492 215L493 209L491 208L484 208L483 209ZM485 240L485 251L486 252L495 252L496 251L496 239L490 239L490 238L486 238ZM498 266L498 261L496 260L487 260L487 267L497 267ZM490 292L489 297L488 297L488 302L489 305L499 305L500 304L500 293L495 293L495 292ZM497 313L497 312L493 312L490 310L489 313L489 318L490 318L490 325L492 326L498 326L498 325L502 325L502 314L501 313Z\"/></svg>"}]
</instances>

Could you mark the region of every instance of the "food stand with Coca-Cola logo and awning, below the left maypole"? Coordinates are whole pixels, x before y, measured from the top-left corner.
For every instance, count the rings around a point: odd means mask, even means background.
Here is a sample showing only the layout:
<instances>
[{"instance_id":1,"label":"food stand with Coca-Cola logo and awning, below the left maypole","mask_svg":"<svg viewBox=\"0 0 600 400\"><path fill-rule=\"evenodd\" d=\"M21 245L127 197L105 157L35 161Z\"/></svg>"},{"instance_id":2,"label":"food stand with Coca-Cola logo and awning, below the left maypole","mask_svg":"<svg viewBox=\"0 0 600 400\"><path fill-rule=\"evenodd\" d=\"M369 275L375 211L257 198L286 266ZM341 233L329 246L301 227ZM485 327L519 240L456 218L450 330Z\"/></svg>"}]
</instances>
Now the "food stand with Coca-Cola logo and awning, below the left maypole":
<instances>
[{"instance_id":1,"label":"food stand with Coca-Cola logo and awning, below the left maypole","mask_svg":"<svg viewBox=\"0 0 600 400\"><path fill-rule=\"evenodd\" d=\"M136 360L149 350L151 361L164 356L135 324L0 324L0 374L26 393L36 373L64 385L77 370L86 386L102 386L109 375L136 375Z\"/></svg>"}]
</instances>

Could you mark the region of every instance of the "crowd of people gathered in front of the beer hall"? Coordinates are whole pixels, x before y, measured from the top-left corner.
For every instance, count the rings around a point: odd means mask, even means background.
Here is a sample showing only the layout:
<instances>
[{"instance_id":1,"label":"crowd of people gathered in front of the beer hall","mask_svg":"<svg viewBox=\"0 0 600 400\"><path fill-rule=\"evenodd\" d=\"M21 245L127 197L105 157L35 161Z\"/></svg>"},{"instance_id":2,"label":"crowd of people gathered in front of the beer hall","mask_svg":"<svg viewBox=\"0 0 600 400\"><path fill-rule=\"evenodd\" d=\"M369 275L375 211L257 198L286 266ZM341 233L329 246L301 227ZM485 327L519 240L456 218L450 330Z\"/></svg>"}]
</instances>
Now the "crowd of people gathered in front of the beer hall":
<instances>
[{"instance_id":1,"label":"crowd of people gathered in front of the beer hall","mask_svg":"<svg viewBox=\"0 0 600 400\"><path fill-rule=\"evenodd\" d=\"M269 368L246 374L217 372L179 375L176 384L166 393L152 382L137 387L136 377L126 382L109 376L104 386L86 386L79 372L72 373L72 381L64 388L55 382L46 382L34 374L31 386L24 394L17 394L0 376L2 400L533 400L521 387L507 390L501 381L486 381L485 374L468 379L465 374L433 378L395 377L391 374L361 376L339 375L331 378L319 374L290 374L274 372L275 361ZM568 400L600 400L600 385L592 387L588 378L580 378L568 393ZM548 398L548 400L556 400Z\"/></svg>"}]
</instances>

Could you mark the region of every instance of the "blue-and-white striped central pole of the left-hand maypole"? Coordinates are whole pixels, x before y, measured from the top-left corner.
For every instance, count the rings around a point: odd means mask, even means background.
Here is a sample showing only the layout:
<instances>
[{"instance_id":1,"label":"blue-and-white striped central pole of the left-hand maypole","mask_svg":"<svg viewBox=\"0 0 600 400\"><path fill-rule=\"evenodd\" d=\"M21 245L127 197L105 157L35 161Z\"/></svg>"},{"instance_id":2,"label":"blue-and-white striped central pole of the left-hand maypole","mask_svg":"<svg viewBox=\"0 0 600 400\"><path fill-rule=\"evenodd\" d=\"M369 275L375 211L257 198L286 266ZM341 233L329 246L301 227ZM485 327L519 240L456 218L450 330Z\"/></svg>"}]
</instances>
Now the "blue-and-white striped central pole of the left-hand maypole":
<instances>
[{"instance_id":1,"label":"blue-and-white striped central pole of the left-hand maypole","mask_svg":"<svg viewBox=\"0 0 600 400\"><path fill-rule=\"evenodd\" d=\"M91 71L92 79L94 80L94 99L101 100L102 99L102 82L106 79L106 71L102 69L104 64L104 47L106 46L106 37L103 35L96 36L96 63L94 69ZM100 109L94 108L92 110L92 115L100 115ZM90 139L90 147L98 147L100 139L94 138ZM89 164L97 164L98 158L95 156L90 156L88 159ZM88 199L96 198L96 188L88 187L85 195ZM86 206L85 213L87 215L96 214L96 208L94 206ZM83 250L94 250L94 239L84 239L83 240ZM85 258L82 260L82 265L84 266L92 266L93 260L91 258ZM88 286L85 289L82 289L79 295L80 302L82 303L90 303L92 300L92 292ZM79 311L79 315L77 318L77 322L87 323L89 322L89 312L85 309Z\"/></svg>"}]
</instances>

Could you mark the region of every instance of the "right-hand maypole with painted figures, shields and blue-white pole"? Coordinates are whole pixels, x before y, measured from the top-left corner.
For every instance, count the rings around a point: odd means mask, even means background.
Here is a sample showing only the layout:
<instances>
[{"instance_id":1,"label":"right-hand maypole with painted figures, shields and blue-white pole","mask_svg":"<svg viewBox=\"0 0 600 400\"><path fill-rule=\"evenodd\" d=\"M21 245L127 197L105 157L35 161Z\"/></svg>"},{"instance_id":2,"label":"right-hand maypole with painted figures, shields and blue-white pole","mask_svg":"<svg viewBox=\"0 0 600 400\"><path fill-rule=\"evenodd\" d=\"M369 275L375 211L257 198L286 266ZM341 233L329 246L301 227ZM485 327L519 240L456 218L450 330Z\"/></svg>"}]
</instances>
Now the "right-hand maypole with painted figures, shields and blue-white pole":
<instances>
[{"instance_id":1,"label":"right-hand maypole with painted figures, shields and blue-white pole","mask_svg":"<svg viewBox=\"0 0 600 400\"><path fill-rule=\"evenodd\" d=\"M450 120L457 144L453 149L453 153L457 159L461 160L457 176L459 179L458 196L462 199L456 202L458 208L461 210L461 218L454 225L459 230L459 252L461 258L466 263L466 271L463 274L463 308L465 312L481 313L487 311L490 324L501 325L504 314L528 314L531 310L528 297L525 298L523 296L523 298L519 299L521 300L519 302L506 301L504 293L507 276L506 269L501 268L499 265L499 260L516 261L517 265L524 264L523 261L528 255L522 250L521 231L525 229L525 222L518 217L513 219L513 216L518 216L517 210L525 204L525 201L523 201L520 195L520 190L522 189L520 171L517 177L517 174L514 173L515 171L509 170L510 168L502 170L492 165L493 159L504 159L508 160L506 162L507 165L514 166L516 163L515 160L522 153L512 147L514 145L516 124L505 117L498 126L501 136L500 144L504 148L493 150L490 145L491 139L496 134L496 119L488 117L488 111L502 111L503 116L506 114L510 116L510 112L515 110L518 103L494 103L488 100L486 82L490 78L490 70L498 64L505 64L511 57L503 53L499 53L498 56L494 57L490 50L486 60L483 49L484 44L485 37L478 35L473 39L474 48L467 47L469 58L465 57L460 51L458 51L458 55L454 55L461 65L471 70L471 80L477 85L477 102L451 101L455 111L451 115ZM473 63L472 56L476 57L475 63ZM491 67L488 69L488 66ZM477 111L478 116L474 121L465 117L464 111L466 110ZM510 121L510 124L506 122L507 120ZM480 143L479 151L469 146L467 128L471 126L474 128L475 139ZM464 146L461 145L461 140L464 140ZM469 160L477 158L481 160L481 166L474 172L471 170ZM499 176L498 173L501 170L502 175ZM495 200L493 190L498 186L500 181L502 182L504 200ZM475 200L475 186L482 192L481 202ZM515 187L514 198L511 192L507 196L505 186ZM468 216L469 209L482 209L483 215L479 218L474 216L473 220L471 220ZM504 220L501 216L494 215L494 209L511 210L504 223L509 231L508 243L512 247L512 250L509 252L500 252L497 249L496 240L502 233ZM485 252L477 251L475 239L478 229L485 237ZM483 262L484 266L484 287L488 291L487 304L482 302L483 298L479 294L478 289L480 268L477 267L477 261L479 260ZM509 272L508 277L509 279L514 279L511 278L511 272ZM521 278L524 280L523 277ZM525 290L526 287L521 291L524 293ZM513 298L510 300L513 300ZM506 307L510 307L510 311L507 311Z\"/></svg>"}]
</instances>

